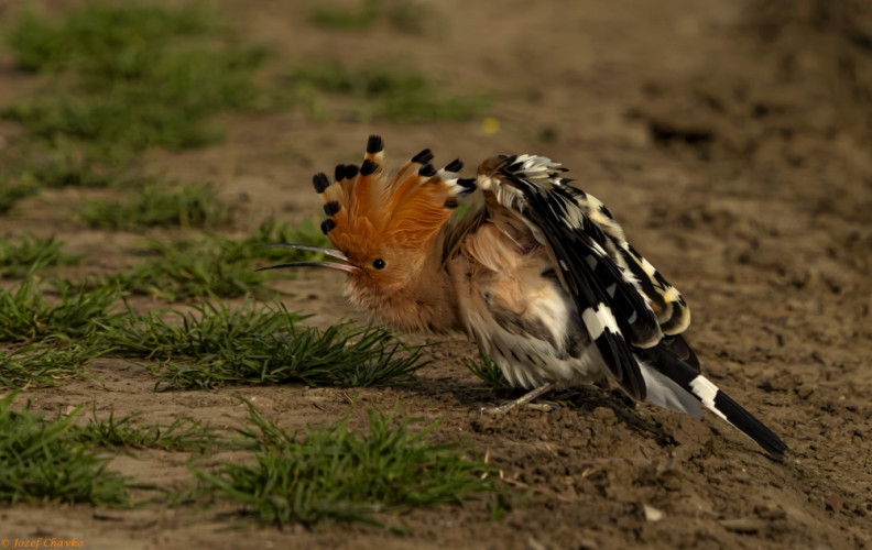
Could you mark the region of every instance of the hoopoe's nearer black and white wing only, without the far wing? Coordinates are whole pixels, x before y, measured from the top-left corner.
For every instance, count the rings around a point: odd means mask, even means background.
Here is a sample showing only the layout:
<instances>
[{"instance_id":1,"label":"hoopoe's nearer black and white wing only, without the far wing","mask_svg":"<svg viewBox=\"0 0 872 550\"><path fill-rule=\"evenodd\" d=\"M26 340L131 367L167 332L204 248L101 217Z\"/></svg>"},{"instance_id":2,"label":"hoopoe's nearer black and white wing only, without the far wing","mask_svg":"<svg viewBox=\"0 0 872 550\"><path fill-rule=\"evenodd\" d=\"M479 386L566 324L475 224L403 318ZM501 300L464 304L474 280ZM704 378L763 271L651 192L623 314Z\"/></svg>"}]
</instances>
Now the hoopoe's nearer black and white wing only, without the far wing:
<instances>
[{"instance_id":1,"label":"hoopoe's nearer black and white wing only, without the far wing","mask_svg":"<svg viewBox=\"0 0 872 550\"><path fill-rule=\"evenodd\" d=\"M643 399L645 382L632 346L663 338L657 316L632 272L610 255L613 239L579 206L582 191L563 183L557 166L538 156L493 157L479 168L487 176L480 183L548 246L611 375Z\"/></svg>"}]
</instances>

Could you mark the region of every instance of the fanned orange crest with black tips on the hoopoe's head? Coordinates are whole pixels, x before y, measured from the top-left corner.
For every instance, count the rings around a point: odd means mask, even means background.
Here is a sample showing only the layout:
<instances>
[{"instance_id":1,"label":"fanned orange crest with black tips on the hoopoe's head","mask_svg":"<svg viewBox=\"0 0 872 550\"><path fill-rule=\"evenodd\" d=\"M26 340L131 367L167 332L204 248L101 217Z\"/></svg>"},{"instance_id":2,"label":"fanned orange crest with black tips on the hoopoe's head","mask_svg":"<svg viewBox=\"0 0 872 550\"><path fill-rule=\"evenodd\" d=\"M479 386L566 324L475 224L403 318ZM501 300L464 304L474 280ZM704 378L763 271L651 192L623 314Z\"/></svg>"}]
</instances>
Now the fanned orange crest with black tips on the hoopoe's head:
<instances>
[{"instance_id":1,"label":"fanned orange crest with black tips on the hoopoe's head","mask_svg":"<svg viewBox=\"0 0 872 550\"><path fill-rule=\"evenodd\" d=\"M384 144L378 135L367 143L363 163L338 165L330 182L314 177L324 199L327 219L321 230L346 253L375 245L425 249L458 206L458 195L475 188L472 179L459 179L458 160L436 170L425 148L389 179L384 175Z\"/></svg>"}]
</instances>

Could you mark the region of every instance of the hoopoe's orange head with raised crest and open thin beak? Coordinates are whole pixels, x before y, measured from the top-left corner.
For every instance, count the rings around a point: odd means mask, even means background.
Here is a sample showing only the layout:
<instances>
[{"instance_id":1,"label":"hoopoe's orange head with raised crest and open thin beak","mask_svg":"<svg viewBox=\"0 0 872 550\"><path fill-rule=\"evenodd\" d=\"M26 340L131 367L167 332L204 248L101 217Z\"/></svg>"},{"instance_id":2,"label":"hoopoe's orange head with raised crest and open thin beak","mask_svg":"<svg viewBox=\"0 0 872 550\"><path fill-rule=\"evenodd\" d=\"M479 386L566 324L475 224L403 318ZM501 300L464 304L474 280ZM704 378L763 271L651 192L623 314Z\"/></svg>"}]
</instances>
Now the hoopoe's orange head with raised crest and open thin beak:
<instances>
[{"instance_id":1,"label":"hoopoe's orange head with raised crest and open thin beak","mask_svg":"<svg viewBox=\"0 0 872 550\"><path fill-rule=\"evenodd\" d=\"M390 177L384 176L383 142L371 135L363 163L338 165L334 179L326 174L313 178L324 199L327 219L321 230L336 250L303 244L274 244L320 252L339 262L292 262L276 267L316 266L348 274L352 295L386 295L406 286L419 274L427 252L439 230L458 206L458 195L475 187L471 179L458 179L462 168L454 161L440 170L424 150Z\"/></svg>"}]
</instances>

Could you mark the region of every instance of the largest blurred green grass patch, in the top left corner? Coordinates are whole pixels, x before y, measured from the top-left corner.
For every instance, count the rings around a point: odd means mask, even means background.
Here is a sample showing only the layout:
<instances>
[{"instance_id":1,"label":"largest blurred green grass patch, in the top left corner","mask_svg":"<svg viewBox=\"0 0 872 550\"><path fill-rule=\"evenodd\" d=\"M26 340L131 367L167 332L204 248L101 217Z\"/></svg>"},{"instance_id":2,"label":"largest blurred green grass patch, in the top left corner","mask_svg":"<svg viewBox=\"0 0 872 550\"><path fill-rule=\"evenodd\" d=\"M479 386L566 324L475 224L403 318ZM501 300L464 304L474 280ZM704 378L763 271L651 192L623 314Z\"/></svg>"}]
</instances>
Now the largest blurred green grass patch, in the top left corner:
<instances>
[{"instance_id":1,"label":"largest blurred green grass patch, in the top left corner","mask_svg":"<svg viewBox=\"0 0 872 550\"><path fill-rule=\"evenodd\" d=\"M58 76L0 116L50 140L129 152L214 143L224 136L215 114L264 101L252 77L266 52L226 35L200 3L91 2L58 23L25 12L8 48L21 67Z\"/></svg>"}]
</instances>

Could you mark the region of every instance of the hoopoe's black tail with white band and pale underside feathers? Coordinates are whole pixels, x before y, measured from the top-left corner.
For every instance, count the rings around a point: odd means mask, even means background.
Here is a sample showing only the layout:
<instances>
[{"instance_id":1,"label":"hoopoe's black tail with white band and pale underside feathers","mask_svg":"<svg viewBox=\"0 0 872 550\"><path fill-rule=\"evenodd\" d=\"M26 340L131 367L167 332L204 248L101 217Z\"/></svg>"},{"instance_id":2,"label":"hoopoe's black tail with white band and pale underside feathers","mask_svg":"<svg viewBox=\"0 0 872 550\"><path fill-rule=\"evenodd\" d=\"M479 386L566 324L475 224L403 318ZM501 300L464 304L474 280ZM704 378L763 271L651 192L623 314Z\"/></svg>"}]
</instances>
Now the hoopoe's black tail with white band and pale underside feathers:
<instances>
[{"instance_id":1,"label":"hoopoe's black tail with white band and pale underside feathers","mask_svg":"<svg viewBox=\"0 0 872 550\"><path fill-rule=\"evenodd\" d=\"M707 409L756 441L773 458L781 460L784 458L784 453L789 451L789 448L778 436L711 381L678 359L665 342L647 350L639 350L636 354L641 360L645 383L648 385L648 400L662 407L698 416L698 407L687 405L686 396L690 394ZM676 393L676 389L680 389L680 393ZM694 409L697 414L694 414Z\"/></svg>"}]
</instances>

